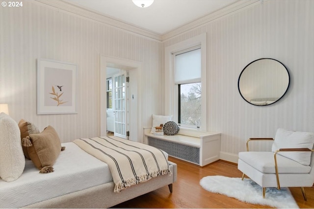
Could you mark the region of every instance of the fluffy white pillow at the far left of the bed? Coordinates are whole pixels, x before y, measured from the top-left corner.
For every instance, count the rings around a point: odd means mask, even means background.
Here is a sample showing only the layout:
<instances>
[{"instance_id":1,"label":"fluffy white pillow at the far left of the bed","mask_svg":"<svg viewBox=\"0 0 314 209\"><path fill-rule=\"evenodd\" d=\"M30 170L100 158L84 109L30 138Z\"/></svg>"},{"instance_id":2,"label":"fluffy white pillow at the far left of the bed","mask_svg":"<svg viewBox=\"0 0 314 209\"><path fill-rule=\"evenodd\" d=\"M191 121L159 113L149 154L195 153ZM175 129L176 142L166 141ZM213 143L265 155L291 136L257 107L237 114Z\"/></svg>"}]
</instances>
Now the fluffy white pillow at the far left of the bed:
<instances>
[{"instance_id":1,"label":"fluffy white pillow at the far left of the bed","mask_svg":"<svg viewBox=\"0 0 314 209\"><path fill-rule=\"evenodd\" d=\"M5 113L0 113L0 177L5 181L18 179L25 167L18 124Z\"/></svg>"}]
</instances>

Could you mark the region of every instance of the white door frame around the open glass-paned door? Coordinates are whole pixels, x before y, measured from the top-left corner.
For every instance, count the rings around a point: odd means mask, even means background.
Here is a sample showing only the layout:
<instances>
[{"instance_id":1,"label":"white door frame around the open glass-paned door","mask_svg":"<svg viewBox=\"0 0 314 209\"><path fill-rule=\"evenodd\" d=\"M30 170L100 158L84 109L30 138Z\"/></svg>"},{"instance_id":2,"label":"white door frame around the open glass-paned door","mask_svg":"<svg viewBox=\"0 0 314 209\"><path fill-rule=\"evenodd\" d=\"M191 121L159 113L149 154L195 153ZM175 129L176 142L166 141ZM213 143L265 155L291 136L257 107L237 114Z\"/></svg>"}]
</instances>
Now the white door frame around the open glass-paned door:
<instances>
[{"instance_id":1,"label":"white door frame around the open glass-paned door","mask_svg":"<svg viewBox=\"0 0 314 209\"><path fill-rule=\"evenodd\" d=\"M143 142L143 129L142 129L142 69L143 63L134 60L127 60L122 58L110 57L100 55L100 136L106 136L107 130L107 117L106 117L106 68L107 66L118 67L129 70L130 76L136 80L135 90L131 89L130 95L134 94L134 99L129 99L130 108L130 137L129 139L136 142ZM136 72L135 72L136 71ZM136 75L136 77L135 77ZM130 78L132 79L132 78ZM134 131L135 130L135 131Z\"/></svg>"}]
</instances>

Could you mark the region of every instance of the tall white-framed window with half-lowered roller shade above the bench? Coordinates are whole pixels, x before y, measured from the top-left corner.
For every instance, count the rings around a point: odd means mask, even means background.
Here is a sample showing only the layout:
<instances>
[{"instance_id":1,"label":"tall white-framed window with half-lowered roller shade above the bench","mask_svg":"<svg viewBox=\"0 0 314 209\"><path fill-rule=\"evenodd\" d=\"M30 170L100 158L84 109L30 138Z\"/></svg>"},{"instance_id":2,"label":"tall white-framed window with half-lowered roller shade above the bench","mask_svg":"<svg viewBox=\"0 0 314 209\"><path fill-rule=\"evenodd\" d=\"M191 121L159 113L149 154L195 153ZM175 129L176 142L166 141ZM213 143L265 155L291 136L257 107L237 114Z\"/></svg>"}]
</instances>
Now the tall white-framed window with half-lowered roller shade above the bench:
<instances>
[{"instance_id":1,"label":"tall white-framed window with half-lowered roller shade above the bench","mask_svg":"<svg viewBox=\"0 0 314 209\"><path fill-rule=\"evenodd\" d=\"M165 47L165 115L207 130L206 33Z\"/></svg>"}]
</instances>

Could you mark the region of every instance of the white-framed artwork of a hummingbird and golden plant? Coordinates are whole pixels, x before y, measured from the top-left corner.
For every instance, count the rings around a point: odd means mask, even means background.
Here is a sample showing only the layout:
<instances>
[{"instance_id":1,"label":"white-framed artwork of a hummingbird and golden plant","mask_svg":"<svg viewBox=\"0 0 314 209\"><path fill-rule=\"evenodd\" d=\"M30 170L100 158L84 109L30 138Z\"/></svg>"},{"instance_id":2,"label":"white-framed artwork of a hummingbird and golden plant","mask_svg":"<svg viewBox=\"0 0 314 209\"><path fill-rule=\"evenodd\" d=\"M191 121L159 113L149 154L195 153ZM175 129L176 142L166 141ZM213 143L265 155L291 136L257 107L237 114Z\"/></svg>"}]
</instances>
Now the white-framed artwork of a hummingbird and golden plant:
<instances>
[{"instance_id":1,"label":"white-framed artwork of a hummingbird and golden plant","mask_svg":"<svg viewBox=\"0 0 314 209\"><path fill-rule=\"evenodd\" d=\"M37 114L76 114L77 65L37 60Z\"/></svg>"}]
</instances>

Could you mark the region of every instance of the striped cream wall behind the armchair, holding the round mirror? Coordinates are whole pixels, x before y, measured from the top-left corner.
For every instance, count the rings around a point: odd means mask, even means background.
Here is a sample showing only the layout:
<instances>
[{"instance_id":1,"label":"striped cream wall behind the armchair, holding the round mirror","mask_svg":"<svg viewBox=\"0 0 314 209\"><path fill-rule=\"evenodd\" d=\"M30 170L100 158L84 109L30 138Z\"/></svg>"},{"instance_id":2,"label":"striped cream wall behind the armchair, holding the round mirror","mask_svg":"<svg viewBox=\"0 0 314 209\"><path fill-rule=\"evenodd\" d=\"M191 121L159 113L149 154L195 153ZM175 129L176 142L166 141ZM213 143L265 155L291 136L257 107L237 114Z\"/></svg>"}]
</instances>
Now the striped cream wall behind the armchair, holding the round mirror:
<instances>
[{"instance_id":1,"label":"striped cream wall behind the armchair, holding the round mirror","mask_svg":"<svg viewBox=\"0 0 314 209\"><path fill-rule=\"evenodd\" d=\"M222 133L221 158L236 161L249 137L274 137L279 127L314 132L313 0L264 0L170 38L163 48L204 32L207 130ZM291 76L286 95L264 107L250 105L237 89L242 69L260 58L281 61Z\"/></svg>"}]
</instances>

